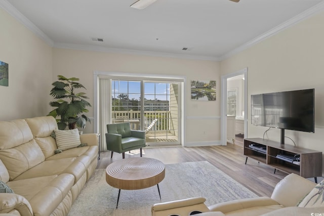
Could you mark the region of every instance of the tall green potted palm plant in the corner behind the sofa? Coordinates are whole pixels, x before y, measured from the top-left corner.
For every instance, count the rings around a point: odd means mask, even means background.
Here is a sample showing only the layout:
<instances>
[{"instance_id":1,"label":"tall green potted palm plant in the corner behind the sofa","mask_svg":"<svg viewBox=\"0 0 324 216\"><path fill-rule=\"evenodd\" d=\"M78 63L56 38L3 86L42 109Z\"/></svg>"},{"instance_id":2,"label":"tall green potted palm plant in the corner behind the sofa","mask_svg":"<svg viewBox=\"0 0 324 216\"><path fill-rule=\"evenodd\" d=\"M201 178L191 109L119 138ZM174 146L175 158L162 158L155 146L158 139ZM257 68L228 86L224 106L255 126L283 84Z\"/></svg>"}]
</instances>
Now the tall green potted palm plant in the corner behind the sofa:
<instances>
[{"instance_id":1,"label":"tall green potted palm plant in the corner behind the sofa","mask_svg":"<svg viewBox=\"0 0 324 216\"><path fill-rule=\"evenodd\" d=\"M57 99L50 102L50 106L55 107L48 115L56 118L59 129L74 129L77 127L85 128L87 121L91 120L82 113L87 113L87 107L91 104L86 93L75 91L78 89L86 89L83 84L77 82L79 79L75 77L66 78L62 75L57 76L59 81L52 83L53 89L50 95ZM58 117L58 118L57 118Z\"/></svg>"}]
</instances>

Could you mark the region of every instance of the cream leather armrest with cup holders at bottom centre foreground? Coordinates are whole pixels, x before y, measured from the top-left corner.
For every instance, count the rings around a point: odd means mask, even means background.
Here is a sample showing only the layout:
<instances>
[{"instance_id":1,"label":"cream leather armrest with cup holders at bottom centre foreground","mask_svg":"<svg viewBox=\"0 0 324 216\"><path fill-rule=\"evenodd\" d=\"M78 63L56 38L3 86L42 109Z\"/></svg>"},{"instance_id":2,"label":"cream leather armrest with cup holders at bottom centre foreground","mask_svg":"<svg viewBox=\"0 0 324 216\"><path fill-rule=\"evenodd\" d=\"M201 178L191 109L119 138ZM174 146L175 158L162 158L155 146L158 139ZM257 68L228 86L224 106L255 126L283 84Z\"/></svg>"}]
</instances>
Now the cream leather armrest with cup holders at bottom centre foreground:
<instances>
[{"instance_id":1,"label":"cream leather armrest with cup holders at bottom centre foreground","mask_svg":"<svg viewBox=\"0 0 324 216\"><path fill-rule=\"evenodd\" d=\"M205 205L206 199L203 197L194 197L176 201L154 204L151 208L152 216L162 215L190 215L192 211L207 212Z\"/></svg>"}]
</instances>

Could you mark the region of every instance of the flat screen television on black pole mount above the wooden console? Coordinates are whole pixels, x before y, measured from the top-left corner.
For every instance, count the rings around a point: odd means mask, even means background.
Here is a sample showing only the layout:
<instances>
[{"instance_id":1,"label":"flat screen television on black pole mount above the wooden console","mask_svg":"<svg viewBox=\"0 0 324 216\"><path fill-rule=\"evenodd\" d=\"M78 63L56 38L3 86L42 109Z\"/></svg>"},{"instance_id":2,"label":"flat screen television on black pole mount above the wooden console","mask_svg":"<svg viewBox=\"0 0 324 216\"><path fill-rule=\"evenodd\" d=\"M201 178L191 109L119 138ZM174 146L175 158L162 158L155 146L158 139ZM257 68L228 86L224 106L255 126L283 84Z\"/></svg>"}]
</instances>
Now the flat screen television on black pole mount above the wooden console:
<instances>
[{"instance_id":1,"label":"flat screen television on black pole mount above the wooden console","mask_svg":"<svg viewBox=\"0 0 324 216\"><path fill-rule=\"evenodd\" d=\"M281 129L314 133L314 89L265 93L251 96L251 123Z\"/></svg>"}]
</instances>

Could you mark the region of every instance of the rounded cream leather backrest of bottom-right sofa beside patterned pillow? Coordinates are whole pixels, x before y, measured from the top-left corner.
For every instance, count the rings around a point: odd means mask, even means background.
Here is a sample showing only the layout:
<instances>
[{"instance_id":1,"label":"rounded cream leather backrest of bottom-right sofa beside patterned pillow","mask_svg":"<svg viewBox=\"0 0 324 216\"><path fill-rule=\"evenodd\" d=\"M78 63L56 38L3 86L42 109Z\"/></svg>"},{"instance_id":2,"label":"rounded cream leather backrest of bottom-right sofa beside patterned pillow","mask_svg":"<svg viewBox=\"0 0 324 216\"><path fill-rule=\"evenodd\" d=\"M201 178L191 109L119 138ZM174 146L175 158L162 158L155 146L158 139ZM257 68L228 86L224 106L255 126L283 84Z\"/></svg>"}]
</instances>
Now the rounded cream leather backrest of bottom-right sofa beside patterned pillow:
<instances>
[{"instance_id":1,"label":"rounded cream leather backrest of bottom-right sofa beside patterned pillow","mask_svg":"<svg viewBox=\"0 0 324 216\"><path fill-rule=\"evenodd\" d=\"M289 174L274 187L271 198L285 207L296 206L315 186L308 179Z\"/></svg>"}]
</instances>

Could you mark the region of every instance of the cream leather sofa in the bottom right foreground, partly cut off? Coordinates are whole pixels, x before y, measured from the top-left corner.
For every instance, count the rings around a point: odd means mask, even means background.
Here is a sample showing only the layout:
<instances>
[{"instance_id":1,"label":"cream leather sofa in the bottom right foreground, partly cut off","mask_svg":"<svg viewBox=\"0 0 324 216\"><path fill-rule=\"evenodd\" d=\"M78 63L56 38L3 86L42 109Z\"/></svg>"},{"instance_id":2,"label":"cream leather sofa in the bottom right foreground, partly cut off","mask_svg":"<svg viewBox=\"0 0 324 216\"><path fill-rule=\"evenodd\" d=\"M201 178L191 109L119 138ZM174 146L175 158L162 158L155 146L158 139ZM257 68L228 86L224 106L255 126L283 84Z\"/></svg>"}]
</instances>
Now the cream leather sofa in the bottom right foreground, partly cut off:
<instances>
[{"instance_id":1,"label":"cream leather sofa in the bottom right foreground, partly cut off","mask_svg":"<svg viewBox=\"0 0 324 216\"><path fill-rule=\"evenodd\" d=\"M324 215L324 203L321 203L324 182L316 186L315 183L296 174L290 174L282 179L274 188L271 197L257 197L228 201L207 207L205 198L195 197L165 203L157 203L152 206L152 216L187 216L193 211L203 212L197 216L276 216L276 215ZM323 192L323 190L321 191ZM317 204L313 202L317 199ZM215 195L217 197L217 195ZM311 202L307 202L310 198ZM300 203L301 200L304 200ZM300 206L306 207L297 207Z\"/></svg>"}]
</instances>

